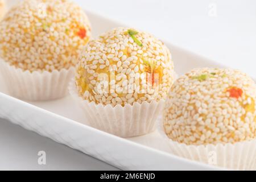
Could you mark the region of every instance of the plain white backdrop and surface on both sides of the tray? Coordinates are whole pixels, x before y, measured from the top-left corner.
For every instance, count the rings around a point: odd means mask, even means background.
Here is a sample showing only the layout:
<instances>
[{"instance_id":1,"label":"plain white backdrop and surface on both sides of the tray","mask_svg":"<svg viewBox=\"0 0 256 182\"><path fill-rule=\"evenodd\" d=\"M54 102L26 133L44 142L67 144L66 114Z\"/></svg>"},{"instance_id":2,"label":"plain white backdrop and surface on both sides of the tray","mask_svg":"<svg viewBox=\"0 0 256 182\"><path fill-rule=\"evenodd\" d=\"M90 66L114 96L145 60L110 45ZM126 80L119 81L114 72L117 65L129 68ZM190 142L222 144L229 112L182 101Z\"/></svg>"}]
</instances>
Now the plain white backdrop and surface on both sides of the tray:
<instances>
[{"instance_id":1,"label":"plain white backdrop and surface on both sides of the tray","mask_svg":"<svg viewBox=\"0 0 256 182\"><path fill-rule=\"evenodd\" d=\"M256 1L75 0L85 9L256 78ZM0 121L0 169L114 169L52 140ZM47 166L37 152L47 152Z\"/></svg>"}]
</instances>

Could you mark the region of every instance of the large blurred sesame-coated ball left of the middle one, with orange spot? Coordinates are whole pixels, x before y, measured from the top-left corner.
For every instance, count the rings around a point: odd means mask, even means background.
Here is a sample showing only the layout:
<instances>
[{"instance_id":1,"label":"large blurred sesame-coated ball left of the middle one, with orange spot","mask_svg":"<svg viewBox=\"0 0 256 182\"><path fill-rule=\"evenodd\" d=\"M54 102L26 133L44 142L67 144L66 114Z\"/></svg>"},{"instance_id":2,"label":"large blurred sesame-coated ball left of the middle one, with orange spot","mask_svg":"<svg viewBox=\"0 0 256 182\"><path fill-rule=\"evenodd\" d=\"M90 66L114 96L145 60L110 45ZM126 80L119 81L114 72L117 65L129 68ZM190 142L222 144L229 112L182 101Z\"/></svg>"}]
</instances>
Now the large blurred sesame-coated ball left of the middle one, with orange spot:
<instances>
[{"instance_id":1,"label":"large blurred sesame-coated ball left of the middle one, with orange spot","mask_svg":"<svg viewBox=\"0 0 256 182\"><path fill-rule=\"evenodd\" d=\"M84 11L66 0L25 0L0 23L0 57L28 71L68 69L91 36Z\"/></svg>"}]
</instances>

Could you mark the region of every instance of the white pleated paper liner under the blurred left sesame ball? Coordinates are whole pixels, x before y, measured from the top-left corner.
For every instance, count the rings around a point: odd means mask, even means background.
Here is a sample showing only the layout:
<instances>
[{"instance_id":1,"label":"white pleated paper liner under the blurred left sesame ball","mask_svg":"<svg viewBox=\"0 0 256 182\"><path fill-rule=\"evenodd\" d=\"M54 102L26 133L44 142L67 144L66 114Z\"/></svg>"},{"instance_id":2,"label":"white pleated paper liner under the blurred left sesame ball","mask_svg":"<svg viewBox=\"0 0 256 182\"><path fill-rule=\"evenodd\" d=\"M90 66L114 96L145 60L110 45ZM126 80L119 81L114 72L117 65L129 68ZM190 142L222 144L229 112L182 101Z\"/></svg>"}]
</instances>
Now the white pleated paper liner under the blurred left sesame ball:
<instances>
[{"instance_id":1,"label":"white pleated paper liner under the blurred left sesame ball","mask_svg":"<svg viewBox=\"0 0 256 182\"><path fill-rule=\"evenodd\" d=\"M68 84L75 75L75 68L31 73L0 59L0 73L11 96L27 101L47 101L68 94Z\"/></svg>"}]
</instances>

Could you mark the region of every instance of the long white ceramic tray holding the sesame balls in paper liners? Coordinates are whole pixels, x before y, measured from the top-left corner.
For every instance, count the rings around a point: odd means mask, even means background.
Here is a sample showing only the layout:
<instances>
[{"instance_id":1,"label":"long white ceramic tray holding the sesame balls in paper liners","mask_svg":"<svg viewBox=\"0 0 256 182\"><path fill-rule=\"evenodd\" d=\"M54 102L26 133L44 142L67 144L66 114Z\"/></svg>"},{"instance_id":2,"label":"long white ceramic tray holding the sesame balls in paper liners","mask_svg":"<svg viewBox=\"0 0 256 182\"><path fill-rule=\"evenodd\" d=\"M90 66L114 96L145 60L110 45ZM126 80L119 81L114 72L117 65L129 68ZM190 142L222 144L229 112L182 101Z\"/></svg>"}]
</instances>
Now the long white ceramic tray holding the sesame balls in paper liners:
<instances>
[{"instance_id":1,"label":"long white ceramic tray holding the sesame balls in paper liners","mask_svg":"<svg viewBox=\"0 0 256 182\"><path fill-rule=\"evenodd\" d=\"M86 11L97 36L121 23ZM176 46L171 49L175 70L180 75L196 67L222 67ZM0 118L56 142L66 144L121 169L130 170L209 170L219 169L169 153L158 131L129 139L122 139L86 126L84 115L71 96L49 102L24 102L10 97L0 77ZM11 135L11 134L10 134Z\"/></svg>"}]
</instances>

